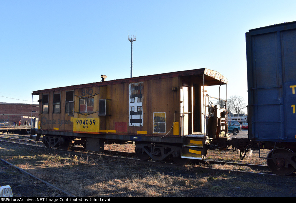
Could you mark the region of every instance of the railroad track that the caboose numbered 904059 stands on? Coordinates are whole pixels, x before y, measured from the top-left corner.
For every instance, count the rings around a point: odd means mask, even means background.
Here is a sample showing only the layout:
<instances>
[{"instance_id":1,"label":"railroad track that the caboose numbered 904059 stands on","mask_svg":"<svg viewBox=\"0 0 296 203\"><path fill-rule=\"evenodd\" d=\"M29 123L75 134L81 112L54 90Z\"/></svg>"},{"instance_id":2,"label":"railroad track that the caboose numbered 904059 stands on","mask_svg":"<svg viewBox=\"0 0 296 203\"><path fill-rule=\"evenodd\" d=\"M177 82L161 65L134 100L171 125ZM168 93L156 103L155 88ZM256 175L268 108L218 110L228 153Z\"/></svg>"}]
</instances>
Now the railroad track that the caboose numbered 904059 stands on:
<instances>
[{"instance_id":1,"label":"railroad track that the caboose numbered 904059 stands on","mask_svg":"<svg viewBox=\"0 0 296 203\"><path fill-rule=\"evenodd\" d=\"M2 139L2 137L0 138ZM7 138L7 139L12 139L12 138ZM21 144L21 143L16 143L16 142L9 142L9 141L2 141L2 142L7 142L7 143L13 143L13 144ZM26 142L24 140L19 140L17 139L17 142ZM31 142L30 142L31 143ZM42 142L41 142L42 143ZM32 144L22 144L25 146L36 146ZM40 147L43 149L49 149L44 146L36 146ZM76 151L78 148L79 151ZM80 149L79 149L80 148ZM65 152L65 150L60 150L56 148L52 148L53 150L58 150L61 152ZM105 157L105 158L110 158L110 159L117 159L117 160L127 160L127 161L136 161L137 163L144 163L144 164L149 164L149 165L158 165L158 166L163 166L163 167L170 167L170 168L180 168L183 170L191 170L191 171L197 171L197 170L206 170L209 172L223 172L223 173L249 173L249 174L261 174L261 175L271 175L275 176L275 174L271 173L268 171L268 167L266 165L254 165L254 164L244 164L244 163L233 163L233 162L223 162L223 161L216 161L216 160L193 160L190 165L185 165L185 166L180 166L172 163L161 163L161 162L156 162L156 161L143 161L139 159L135 159L133 157L136 157L135 153L129 153L129 152L120 152L120 151L112 151L112 150L104 150L103 154L97 154L97 153L91 153L91 152L83 152L82 147L75 147L75 151L73 150L68 150L68 153L77 153L77 155L88 155L88 156L100 156L100 157ZM112 155L107 155L108 153ZM114 156L116 155L121 155L121 156ZM122 157L125 156L125 157ZM132 158L131 158L132 157ZM220 169L220 168L213 168L213 164L218 164L218 165L232 165L233 168L231 169ZM202 165L202 166L198 166ZM246 168L242 168L246 167ZM257 171L257 172L253 172ZM291 175L295 176L295 175Z\"/></svg>"}]
</instances>

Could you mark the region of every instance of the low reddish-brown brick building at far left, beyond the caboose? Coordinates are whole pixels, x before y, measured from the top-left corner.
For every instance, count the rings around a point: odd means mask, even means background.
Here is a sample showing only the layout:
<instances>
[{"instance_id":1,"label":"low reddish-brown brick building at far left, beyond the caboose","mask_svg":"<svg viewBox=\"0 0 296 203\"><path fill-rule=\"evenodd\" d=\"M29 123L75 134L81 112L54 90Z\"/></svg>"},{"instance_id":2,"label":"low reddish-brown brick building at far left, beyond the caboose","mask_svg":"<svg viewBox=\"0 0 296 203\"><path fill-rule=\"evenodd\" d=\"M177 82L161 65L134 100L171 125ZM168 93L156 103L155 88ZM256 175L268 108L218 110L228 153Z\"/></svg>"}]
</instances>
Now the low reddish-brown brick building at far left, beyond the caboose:
<instances>
[{"instance_id":1,"label":"low reddish-brown brick building at far left, beyond the caboose","mask_svg":"<svg viewBox=\"0 0 296 203\"><path fill-rule=\"evenodd\" d=\"M19 121L21 121L21 124L24 124L27 121L29 124L32 117L32 108L35 111L33 117L38 117L38 105L32 107L31 104L0 102L0 122L9 122L11 124L16 122L19 124Z\"/></svg>"}]
</instances>

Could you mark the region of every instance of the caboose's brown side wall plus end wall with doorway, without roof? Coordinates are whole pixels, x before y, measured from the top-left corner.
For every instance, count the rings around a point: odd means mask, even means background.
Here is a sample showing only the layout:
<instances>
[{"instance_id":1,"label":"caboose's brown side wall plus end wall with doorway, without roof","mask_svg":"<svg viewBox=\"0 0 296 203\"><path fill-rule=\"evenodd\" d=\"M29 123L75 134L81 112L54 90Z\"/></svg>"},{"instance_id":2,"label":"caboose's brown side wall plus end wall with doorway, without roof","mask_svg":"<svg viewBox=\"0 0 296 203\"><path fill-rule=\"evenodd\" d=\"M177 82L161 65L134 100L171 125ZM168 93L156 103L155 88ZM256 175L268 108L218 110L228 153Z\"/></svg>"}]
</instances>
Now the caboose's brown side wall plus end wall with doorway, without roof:
<instances>
[{"instance_id":1,"label":"caboose's brown side wall plus end wall with doorway, without roof","mask_svg":"<svg viewBox=\"0 0 296 203\"><path fill-rule=\"evenodd\" d=\"M189 88L187 111L188 124L180 123L180 87L184 79ZM143 84L143 125L129 126L129 89L134 83L122 83L107 86L88 86L74 90L74 116L65 113L66 92L55 91L40 94L49 95L48 113L40 114L39 129L58 132L74 132L83 134L123 134L180 137L185 133L202 132L201 81L190 78L165 78L140 82ZM190 87L192 86L192 87ZM60 112L53 113L53 95L60 94ZM80 113L79 100L94 98L93 112ZM106 116L98 116L99 99L106 99ZM42 101L40 102L42 112ZM161 117L162 122L157 120ZM96 121L96 124L94 124ZM88 124L86 124L88 123ZM91 124L90 124L91 123ZM181 133L182 132L182 133ZM57 133L58 134L58 133ZM99 137L99 135L97 135Z\"/></svg>"}]
</instances>

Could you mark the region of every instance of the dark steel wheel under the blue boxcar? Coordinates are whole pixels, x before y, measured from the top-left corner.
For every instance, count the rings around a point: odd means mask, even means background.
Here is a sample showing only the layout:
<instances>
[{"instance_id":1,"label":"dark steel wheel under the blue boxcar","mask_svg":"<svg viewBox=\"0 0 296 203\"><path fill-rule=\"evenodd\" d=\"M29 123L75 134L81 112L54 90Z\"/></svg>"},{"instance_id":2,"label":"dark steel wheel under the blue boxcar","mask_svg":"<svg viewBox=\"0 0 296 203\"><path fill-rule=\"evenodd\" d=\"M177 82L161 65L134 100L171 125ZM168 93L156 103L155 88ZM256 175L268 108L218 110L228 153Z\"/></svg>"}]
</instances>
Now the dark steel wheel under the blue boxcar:
<instances>
[{"instance_id":1,"label":"dark steel wheel under the blue boxcar","mask_svg":"<svg viewBox=\"0 0 296 203\"><path fill-rule=\"evenodd\" d=\"M268 168L279 176L287 176L293 173L295 168L291 164L288 164L288 167L285 167L284 158L277 158L276 162L274 162L272 156L276 155L277 153L292 153L292 151L284 147L277 147L271 150L267 155Z\"/></svg>"}]
</instances>

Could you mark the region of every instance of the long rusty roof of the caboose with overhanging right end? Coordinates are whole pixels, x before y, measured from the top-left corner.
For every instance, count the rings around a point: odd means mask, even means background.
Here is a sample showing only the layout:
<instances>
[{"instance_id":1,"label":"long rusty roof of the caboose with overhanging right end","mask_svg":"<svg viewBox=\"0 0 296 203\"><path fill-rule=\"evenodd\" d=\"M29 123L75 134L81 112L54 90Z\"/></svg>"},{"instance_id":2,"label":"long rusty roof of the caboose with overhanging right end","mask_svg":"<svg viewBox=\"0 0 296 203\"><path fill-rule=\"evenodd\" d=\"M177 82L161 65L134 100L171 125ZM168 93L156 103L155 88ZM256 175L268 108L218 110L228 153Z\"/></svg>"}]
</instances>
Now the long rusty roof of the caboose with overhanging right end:
<instances>
[{"instance_id":1,"label":"long rusty roof of the caboose with overhanging right end","mask_svg":"<svg viewBox=\"0 0 296 203\"><path fill-rule=\"evenodd\" d=\"M80 89L80 88L86 88L86 87L115 85L115 84L120 84L120 83L121 84L122 83L133 83L133 82L164 79L164 78L171 78L171 77L202 76L203 74L204 74L205 82L207 82L207 85L228 84L227 79L223 75L218 73L217 71L201 68L201 69L194 69L194 70L186 70L186 71L178 71L178 72L132 77L132 78L126 78L126 79L116 79L116 80L110 80L110 81L104 81L104 82L93 82L93 83L88 83L88 84L83 84L83 85L71 85L71 86L66 86L66 87L56 87L56 88L45 89L45 90L37 90L37 91L32 92L32 95L39 95L41 93L46 93L46 92L74 90L74 89Z\"/></svg>"}]
</instances>

